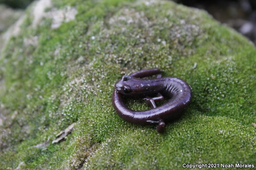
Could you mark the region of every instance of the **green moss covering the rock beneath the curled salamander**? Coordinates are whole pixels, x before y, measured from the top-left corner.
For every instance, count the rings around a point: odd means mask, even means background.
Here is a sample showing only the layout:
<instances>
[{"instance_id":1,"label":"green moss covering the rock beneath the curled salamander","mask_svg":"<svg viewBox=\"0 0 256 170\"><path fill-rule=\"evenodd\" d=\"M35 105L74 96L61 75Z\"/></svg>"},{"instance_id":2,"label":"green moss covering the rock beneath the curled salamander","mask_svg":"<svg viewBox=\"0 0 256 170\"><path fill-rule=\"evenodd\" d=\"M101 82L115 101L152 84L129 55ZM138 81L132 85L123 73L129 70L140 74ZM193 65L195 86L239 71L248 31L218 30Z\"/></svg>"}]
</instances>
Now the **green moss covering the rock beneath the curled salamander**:
<instances>
[{"instance_id":1,"label":"green moss covering the rock beneath the curled salamander","mask_svg":"<svg viewBox=\"0 0 256 170\"><path fill-rule=\"evenodd\" d=\"M1 169L20 162L28 169L255 163L252 43L204 11L171 1L53 0L52 5L48 12L75 8L76 18L56 29L52 19L43 18L33 27L30 7L20 35L1 55ZM160 68L192 87L190 107L164 134L155 126L124 122L112 108L114 83L146 68ZM128 104L148 109L142 101ZM72 133L51 144L73 122ZM46 147L35 147L46 141Z\"/></svg>"}]
</instances>

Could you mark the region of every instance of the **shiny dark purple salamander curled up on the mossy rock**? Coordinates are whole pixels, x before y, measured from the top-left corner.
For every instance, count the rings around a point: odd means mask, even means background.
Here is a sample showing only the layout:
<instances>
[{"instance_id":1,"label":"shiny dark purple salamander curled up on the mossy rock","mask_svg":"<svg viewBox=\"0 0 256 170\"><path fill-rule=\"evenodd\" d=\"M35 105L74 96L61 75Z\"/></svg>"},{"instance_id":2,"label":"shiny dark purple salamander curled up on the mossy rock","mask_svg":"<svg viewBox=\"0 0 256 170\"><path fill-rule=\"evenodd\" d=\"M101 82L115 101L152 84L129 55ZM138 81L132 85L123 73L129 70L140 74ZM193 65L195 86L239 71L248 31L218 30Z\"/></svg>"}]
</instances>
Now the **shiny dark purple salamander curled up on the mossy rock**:
<instances>
[{"instance_id":1,"label":"shiny dark purple salamander curled up on the mossy rock","mask_svg":"<svg viewBox=\"0 0 256 170\"><path fill-rule=\"evenodd\" d=\"M188 106L191 99L190 86L180 78L161 78L161 70L148 69L135 72L129 76L124 75L115 85L112 95L112 104L117 114L127 122L137 124L157 123L157 132L163 133L165 123L180 116ZM156 79L145 80L144 77L156 75ZM151 109L145 111L134 111L125 106L123 95L145 96L147 104ZM156 95L156 97L148 97ZM155 101L169 100L163 105L156 107Z\"/></svg>"}]
</instances>

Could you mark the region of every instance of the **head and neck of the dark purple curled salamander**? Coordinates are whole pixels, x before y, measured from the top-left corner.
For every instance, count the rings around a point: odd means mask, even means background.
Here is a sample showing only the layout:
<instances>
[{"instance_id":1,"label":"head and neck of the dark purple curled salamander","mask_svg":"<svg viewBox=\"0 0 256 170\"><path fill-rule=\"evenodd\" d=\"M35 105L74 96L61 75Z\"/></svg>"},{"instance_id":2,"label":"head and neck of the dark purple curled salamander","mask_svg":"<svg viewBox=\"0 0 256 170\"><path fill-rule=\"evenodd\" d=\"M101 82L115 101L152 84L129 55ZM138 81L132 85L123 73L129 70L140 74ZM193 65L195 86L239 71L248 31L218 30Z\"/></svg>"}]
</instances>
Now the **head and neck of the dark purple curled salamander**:
<instances>
[{"instance_id":1,"label":"head and neck of the dark purple curled salamander","mask_svg":"<svg viewBox=\"0 0 256 170\"><path fill-rule=\"evenodd\" d=\"M148 95L155 93L147 80L124 75L115 85L117 92L124 95Z\"/></svg>"}]
</instances>

